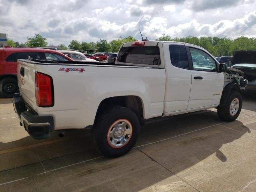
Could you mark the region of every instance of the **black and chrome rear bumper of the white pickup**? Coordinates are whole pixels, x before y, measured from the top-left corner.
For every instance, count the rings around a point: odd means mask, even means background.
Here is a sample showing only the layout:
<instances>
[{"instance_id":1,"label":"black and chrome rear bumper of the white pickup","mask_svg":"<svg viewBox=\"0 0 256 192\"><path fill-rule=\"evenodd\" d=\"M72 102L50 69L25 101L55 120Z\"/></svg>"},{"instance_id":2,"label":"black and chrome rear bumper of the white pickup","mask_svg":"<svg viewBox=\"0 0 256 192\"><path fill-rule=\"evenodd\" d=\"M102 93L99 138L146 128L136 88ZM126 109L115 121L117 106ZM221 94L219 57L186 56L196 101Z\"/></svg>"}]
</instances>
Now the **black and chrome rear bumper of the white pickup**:
<instances>
[{"instance_id":1,"label":"black and chrome rear bumper of the white pickup","mask_svg":"<svg viewBox=\"0 0 256 192\"><path fill-rule=\"evenodd\" d=\"M38 116L36 112L29 109L20 93L14 94L12 103L20 118L20 125L24 126L30 136L34 139L44 139L50 136L50 132L53 130L52 116Z\"/></svg>"}]
</instances>

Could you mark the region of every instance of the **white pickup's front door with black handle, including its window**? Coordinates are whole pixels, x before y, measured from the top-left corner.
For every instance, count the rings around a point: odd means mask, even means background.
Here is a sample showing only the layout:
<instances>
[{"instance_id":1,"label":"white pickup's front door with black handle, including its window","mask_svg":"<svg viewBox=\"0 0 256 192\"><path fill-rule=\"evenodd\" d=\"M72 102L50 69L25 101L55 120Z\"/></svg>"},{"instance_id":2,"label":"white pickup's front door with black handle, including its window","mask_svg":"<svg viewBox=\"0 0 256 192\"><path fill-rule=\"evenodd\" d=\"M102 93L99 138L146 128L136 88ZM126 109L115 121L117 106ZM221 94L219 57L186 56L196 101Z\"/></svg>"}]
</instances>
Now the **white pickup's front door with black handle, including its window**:
<instances>
[{"instance_id":1,"label":"white pickup's front door with black handle, including its window","mask_svg":"<svg viewBox=\"0 0 256 192\"><path fill-rule=\"evenodd\" d=\"M188 109L218 105L224 85L224 74L218 72L218 63L204 50L195 47L187 50L192 68Z\"/></svg>"}]
</instances>

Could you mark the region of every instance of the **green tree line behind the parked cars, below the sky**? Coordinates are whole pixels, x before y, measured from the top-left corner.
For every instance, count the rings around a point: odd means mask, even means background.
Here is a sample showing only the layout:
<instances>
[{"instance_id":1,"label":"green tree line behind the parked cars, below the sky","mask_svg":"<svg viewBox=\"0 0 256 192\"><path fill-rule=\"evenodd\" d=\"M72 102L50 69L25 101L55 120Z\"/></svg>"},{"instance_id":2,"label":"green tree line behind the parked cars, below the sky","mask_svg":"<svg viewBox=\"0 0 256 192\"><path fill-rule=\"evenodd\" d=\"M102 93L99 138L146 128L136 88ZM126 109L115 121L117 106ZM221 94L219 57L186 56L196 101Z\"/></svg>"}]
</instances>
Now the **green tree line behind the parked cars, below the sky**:
<instances>
[{"instance_id":1,"label":"green tree line behind the parked cars, below the sky","mask_svg":"<svg viewBox=\"0 0 256 192\"><path fill-rule=\"evenodd\" d=\"M256 38L238 37L236 39L219 38L219 37L194 37L187 36L185 38L171 38L169 35L163 35L158 39L160 41L176 41L186 42L194 45L201 46L208 50L214 56L232 56L234 51L238 50L256 50ZM126 42L137 41L132 36L119 37L116 40L108 42L106 39L100 39L97 42L78 42L72 40L68 46L60 44L63 50L68 48L74 50L80 50L82 52L86 50L97 50L97 52L118 52L120 46ZM47 46L47 39L40 34L36 34L34 38L28 38L26 43L14 42L11 39L7 40L8 46L28 46L28 47L44 47Z\"/></svg>"}]
</instances>

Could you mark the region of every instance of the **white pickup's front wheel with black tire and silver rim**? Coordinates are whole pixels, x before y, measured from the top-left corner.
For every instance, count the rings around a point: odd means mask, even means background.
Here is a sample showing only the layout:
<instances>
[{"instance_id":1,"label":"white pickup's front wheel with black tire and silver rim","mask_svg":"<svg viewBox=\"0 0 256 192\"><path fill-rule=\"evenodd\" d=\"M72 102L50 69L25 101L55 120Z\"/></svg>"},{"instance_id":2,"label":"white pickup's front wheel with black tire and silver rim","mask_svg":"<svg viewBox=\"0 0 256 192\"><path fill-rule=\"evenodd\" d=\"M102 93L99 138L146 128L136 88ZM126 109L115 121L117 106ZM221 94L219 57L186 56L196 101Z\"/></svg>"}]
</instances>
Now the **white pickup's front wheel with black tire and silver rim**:
<instances>
[{"instance_id":1,"label":"white pickup's front wheel with black tire and silver rim","mask_svg":"<svg viewBox=\"0 0 256 192\"><path fill-rule=\"evenodd\" d=\"M234 121L242 110L242 95L232 90L224 106L218 106L218 116L223 121Z\"/></svg>"}]
</instances>

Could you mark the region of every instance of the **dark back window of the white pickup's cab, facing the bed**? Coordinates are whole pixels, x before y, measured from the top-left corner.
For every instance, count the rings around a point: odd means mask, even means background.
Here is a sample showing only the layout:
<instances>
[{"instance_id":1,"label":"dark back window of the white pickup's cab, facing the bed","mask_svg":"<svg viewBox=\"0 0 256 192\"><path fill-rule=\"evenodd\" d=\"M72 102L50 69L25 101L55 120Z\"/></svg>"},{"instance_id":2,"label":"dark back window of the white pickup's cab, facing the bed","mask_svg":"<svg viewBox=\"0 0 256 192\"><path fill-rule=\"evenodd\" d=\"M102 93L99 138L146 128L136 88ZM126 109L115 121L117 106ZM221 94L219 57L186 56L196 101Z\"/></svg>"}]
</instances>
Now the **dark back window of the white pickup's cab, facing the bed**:
<instances>
[{"instance_id":1,"label":"dark back window of the white pickup's cab, facing the bed","mask_svg":"<svg viewBox=\"0 0 256 192\"><path fill-rule=\"evenodd\" d=\"M160 51L157 46L122 47L118 53L118 62L143 65L160 65Z\"/></svg>"}]
</instances>

